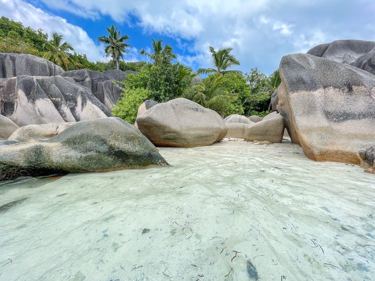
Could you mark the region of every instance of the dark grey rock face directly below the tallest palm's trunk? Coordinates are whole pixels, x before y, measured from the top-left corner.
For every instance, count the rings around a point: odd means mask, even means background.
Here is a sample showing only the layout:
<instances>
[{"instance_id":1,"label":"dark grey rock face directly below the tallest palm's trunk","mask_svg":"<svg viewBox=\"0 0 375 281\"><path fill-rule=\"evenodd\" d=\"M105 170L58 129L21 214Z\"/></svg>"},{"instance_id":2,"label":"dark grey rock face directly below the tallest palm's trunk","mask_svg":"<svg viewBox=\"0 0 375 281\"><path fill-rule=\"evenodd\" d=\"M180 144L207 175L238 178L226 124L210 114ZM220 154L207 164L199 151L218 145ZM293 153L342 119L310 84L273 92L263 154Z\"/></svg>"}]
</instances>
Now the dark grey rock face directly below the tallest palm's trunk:
<instances>
[{"instance_id":1,"label":"dark grey rock face directly below the tallest palm's trunk","mask_svg":"<svg viewBox=\"0 0 375 281\"><path fill-rule=\"evenodd\" d=\"M79 85L83 86L93 93L95 97L103 103L109 110L116 105L118 97L120 97L120 88L113 84L115 81L124 81L125 76L129 73L136 74L134 71L106 70L104 72L94 70L71 70L63 73L61 76L74 79ZM123 86L118 82L119 86Z\"/></svg>"}]
</instances>

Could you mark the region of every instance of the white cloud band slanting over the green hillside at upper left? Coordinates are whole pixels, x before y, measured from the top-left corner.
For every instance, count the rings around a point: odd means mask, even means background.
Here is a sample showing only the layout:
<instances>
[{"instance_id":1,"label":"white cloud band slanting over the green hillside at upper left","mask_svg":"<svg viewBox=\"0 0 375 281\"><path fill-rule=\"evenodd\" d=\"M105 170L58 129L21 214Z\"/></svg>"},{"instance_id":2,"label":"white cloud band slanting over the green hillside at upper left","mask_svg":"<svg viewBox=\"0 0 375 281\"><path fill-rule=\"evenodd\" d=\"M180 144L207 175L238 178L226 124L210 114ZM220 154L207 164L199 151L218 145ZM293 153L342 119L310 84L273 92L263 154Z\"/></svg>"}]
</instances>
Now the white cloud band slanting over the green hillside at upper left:
<instances>
[{"instance_id":1,"label":"white cloud band slanting over the green hillside at upper left","mask_svg":"<svg viewBox=\"0 0 375 281\"><path fill-rule=\"evenodd\" d=\"M81 27L70 24L60 16L51 15L31 4L20 0L0 0L1 15L15 21L20 21L25 26L37 30L43 27L43 31L51 36L52 32L64 35L64 40L71 43L75 51L84 53L89 60L103 60L102 46L95 45L94 41Z\"/></svg>"}]
</instances>

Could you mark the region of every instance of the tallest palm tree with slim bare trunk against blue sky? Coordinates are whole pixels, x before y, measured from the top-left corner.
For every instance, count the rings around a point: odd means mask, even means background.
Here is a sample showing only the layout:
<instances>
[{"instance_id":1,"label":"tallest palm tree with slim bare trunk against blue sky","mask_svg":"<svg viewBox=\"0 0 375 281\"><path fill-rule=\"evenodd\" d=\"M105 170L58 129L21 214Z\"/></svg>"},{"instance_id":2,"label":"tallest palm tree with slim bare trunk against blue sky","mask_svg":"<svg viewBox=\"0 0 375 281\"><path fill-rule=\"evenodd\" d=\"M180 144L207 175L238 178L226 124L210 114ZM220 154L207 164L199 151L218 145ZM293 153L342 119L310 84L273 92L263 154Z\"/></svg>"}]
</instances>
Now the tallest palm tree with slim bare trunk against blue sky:
<instances>
[{"instance_id":1,"label":"tallest palm tree with slim bare trunk against blue sky","mask_svg":"<svg viewBox=\"0 0 375 281\"><path fill-rule=\"evenodd\" d=\"M105 29L108 31L108 37L102 35L98 37L98 41L106 45L104 48L105 57L112 57L113 62L116 64L118 69L120 58L124 60L123 53L129 55L125 48L129 48L132 45L125 43L125 41L129 40L130 37L126 34L121 36L121 31L117 31L117 28L118 27L115 28L114 25L111 25L111 27L106 27Z\"/></svg>"}]
</instances>

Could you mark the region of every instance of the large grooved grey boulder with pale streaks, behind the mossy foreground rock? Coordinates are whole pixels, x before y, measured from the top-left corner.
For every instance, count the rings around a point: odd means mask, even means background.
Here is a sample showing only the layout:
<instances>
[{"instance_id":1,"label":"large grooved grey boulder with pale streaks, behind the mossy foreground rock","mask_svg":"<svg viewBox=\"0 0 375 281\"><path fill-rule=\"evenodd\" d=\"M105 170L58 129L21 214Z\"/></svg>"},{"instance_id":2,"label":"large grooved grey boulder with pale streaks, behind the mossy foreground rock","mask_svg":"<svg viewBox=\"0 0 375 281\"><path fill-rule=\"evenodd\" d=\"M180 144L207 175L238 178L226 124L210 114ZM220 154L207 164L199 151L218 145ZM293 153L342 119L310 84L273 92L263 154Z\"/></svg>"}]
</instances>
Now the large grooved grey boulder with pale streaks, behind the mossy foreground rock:
<instances>
[{"instance_id":1,"label":"large grooved grey boulder with pale streaks, behind the mossy foreground rock","mask_svg":"<svg viewBox=\"0 0 375 281\"><path fill-rule=\"evenodd\" d=\"M9 91L0 90L1 114L20 127L112 116L92 93L62 76L22 75L1 79L1 85Z\"/></svg>"}]
</instances>

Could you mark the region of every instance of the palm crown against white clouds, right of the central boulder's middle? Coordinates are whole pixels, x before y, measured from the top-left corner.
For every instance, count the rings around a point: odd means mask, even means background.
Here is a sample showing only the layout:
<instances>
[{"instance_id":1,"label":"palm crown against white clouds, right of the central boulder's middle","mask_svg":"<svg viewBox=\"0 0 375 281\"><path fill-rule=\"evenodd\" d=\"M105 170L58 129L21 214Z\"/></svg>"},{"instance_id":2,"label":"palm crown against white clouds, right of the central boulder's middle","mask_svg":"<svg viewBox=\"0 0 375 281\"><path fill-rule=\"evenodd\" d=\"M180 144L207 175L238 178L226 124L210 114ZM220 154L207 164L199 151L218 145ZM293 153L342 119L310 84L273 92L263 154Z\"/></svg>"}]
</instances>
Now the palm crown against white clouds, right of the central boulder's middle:
<instances>
[{"instance_id":1,"label":"palm crown against white clouds, right of the central boulder's middle","mask_svg":"<svg viewBox=\"0 0 375 281\"><path fill-rule=\"evenodd\" d=\"M242 74L239 70L227 70L228 68L231 68L235 65L240 65L240 61L237 60L237 58L234 57L234 55L231 55L231 51L233 48L223 48L219 49L218 51L215 51L215 49L210 46L210 52L211 52L211 66L210 68L199 68L198 74L209 74L209 73L229 73L233 72L236 74Z\"/></svg>"}]
</instances>

